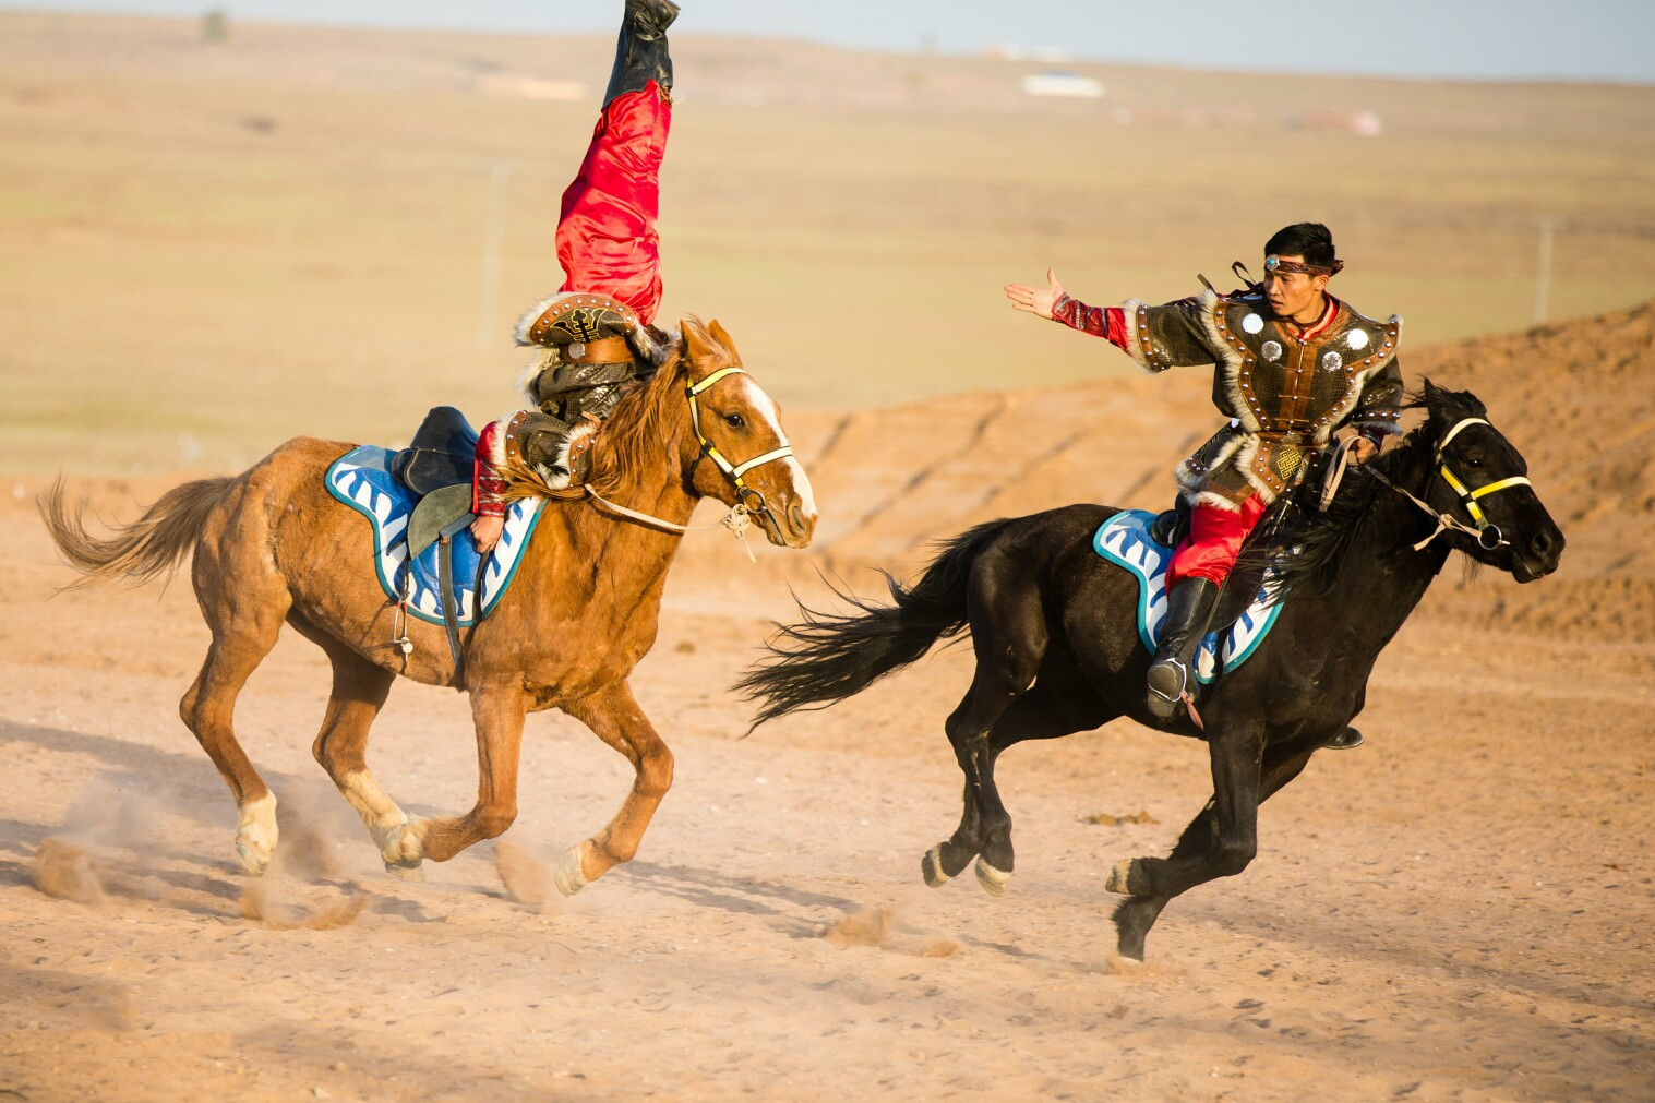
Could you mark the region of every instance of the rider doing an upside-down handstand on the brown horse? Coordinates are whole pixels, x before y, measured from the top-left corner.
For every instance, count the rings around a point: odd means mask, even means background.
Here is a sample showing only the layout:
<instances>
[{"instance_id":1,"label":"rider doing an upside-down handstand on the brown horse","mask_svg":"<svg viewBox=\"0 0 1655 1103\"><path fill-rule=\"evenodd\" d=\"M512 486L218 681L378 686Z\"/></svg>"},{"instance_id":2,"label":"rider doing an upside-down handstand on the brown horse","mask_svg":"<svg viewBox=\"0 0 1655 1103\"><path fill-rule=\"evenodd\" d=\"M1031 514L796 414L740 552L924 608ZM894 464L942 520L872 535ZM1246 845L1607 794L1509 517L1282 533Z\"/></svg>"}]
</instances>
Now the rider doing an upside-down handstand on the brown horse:
<instances>
[{"instance_id":1,"label":"rider doing an upside-down handstand on the brown horse","mask_svg":"<svg viewBox=\"0 0 1655 1103\"><path fill-rule=\"evenodd\" d=\"M505 523L506 462L535 469L553 489L568 485L581 439L659 368L655 219L672 128L667 28L677 15L672 0L626 0L597 128L563 192L556 240L566 278L518 323L518 344L543 349L518 379L533 409L492 422L477 442L472 535L480 552Z\"/></svg>"}]
</instances>

